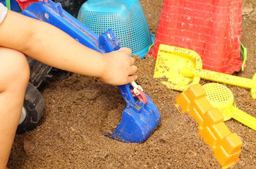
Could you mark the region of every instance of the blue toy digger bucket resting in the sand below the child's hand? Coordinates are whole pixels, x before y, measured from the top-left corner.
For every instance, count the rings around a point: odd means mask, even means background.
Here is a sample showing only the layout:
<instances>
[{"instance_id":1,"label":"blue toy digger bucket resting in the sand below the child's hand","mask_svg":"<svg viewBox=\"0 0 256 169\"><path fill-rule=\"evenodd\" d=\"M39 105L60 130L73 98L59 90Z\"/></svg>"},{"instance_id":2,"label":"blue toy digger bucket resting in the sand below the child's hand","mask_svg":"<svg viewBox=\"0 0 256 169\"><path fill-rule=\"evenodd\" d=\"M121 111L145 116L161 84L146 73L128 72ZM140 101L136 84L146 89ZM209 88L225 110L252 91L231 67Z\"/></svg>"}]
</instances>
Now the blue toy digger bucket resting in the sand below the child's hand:
<instances>
[{"instance_id":1,"label":"blue toy digger bucket resting in the sand below the child's hand","mask_svg":"<svg viewBox=\"0 0 256 169\"><path fill-rule=\"evenodd\" d=\"M134 96L129 96L130 84L119 86L119 89L126 100L126 109L122 113L121 123L106 135L121 142L143 143L159 125L161 115L147 94L146 103L140 100L135 102Z\"/></svg>"}]
</instances>

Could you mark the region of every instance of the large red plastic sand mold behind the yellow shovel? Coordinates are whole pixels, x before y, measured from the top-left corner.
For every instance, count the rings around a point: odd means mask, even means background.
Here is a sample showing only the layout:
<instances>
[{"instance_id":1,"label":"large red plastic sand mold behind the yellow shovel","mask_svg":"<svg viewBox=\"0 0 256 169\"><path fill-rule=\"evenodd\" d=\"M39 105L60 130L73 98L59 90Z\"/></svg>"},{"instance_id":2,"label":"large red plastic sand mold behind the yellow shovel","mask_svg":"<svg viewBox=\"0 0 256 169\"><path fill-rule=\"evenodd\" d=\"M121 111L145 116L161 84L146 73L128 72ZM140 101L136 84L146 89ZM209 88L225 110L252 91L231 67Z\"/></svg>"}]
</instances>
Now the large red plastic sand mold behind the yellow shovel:
<instances>
[{"instance_id":1,"label":"large red plastic sand mold behind the yellow shovel","mask_svg":"<svg viewBox=\"0 0 256 169\"><path fill-rule=\"evenodd\" d=\"M200 54L203 69L232 74L240 71L242 0L164 0L152 54L159 44Z\"/></svg>"}]
</instances>

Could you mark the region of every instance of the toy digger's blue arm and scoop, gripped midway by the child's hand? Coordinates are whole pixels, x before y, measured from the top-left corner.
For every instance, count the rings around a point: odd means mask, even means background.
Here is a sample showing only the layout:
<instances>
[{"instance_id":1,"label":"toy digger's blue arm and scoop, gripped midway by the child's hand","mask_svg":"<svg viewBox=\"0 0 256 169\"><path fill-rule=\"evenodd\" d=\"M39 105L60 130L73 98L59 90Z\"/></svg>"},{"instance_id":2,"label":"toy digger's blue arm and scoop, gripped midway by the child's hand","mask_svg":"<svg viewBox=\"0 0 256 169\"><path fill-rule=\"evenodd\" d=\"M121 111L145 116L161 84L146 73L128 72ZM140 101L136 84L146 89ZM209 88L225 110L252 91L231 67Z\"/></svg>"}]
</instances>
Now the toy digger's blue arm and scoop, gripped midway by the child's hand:
<instances>
[{"instance_id":1,"label":"toy digger's blue arm and scoop, gripped midway by the child's hand","mask_svg":"<svg viewBox=\"0 0 256 169\"><path fill-rule=\"evenodd\" d=\"M40 1L25 8L22 14L59 27L81 44L100 53L120 49L121 42L116 39L112 30L97 35L63 10L60 3ZM161 121L157 106L135 82L118 88L126 101L126 109L123 111L121 123L106 135L121 142L145 142Z\"/></svg>"}]
</instances>

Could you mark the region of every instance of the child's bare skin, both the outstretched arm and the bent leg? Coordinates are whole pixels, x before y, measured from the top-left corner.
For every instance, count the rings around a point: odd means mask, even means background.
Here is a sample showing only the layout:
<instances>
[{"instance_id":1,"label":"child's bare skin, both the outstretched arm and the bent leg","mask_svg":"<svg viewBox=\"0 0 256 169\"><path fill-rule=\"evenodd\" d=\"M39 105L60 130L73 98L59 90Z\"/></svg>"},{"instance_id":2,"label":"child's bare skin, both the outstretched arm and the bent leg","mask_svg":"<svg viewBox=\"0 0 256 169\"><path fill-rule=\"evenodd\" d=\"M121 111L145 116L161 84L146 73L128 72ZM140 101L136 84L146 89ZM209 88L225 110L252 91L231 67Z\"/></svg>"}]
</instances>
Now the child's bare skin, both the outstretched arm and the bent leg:
<instances>
[{"instance_id":1,"label":"child's bare skin, both the outstretched arm and the bent leg","mask_svg":"<svg viewBox=\"0 0 256 169\"><path fill-rule=\"evenodd\" d=\"M0 24L0 169L8 162L29 80L24 54L106 84L127 84L137 78L130 49L100 54L52 25L8 11Z\"/></svg>"}]
</instances>

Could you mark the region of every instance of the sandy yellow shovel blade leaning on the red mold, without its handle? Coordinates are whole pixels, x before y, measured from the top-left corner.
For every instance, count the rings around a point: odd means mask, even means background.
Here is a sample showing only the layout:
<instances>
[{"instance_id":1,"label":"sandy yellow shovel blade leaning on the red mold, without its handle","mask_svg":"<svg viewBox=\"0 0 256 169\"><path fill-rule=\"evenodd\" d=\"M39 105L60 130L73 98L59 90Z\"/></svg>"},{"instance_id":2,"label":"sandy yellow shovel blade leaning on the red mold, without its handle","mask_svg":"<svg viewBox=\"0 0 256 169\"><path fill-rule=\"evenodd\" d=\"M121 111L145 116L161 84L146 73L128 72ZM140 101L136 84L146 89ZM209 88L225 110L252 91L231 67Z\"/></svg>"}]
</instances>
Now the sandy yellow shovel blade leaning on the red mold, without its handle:
<instances>
[{"instance_id":1,"label":"sandy yellow shovel blade leaning on the red mold, without its handle","mask_svg":"<svg viewBox=\"0 0 256 169\"><path fill-rule=\"evenodd\" d=\"M200 56L190 49L159 45L154 78L159 78L170 89L185 91L191 85L199 83L200 77L184 77L181 74L184 67L202 68Z\"/></svg>"}]
</instances>

